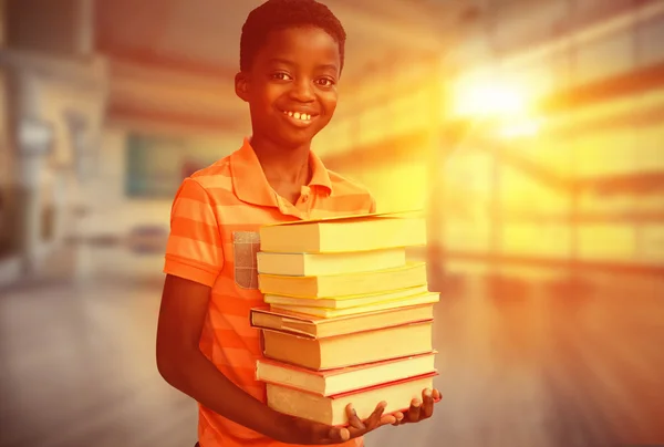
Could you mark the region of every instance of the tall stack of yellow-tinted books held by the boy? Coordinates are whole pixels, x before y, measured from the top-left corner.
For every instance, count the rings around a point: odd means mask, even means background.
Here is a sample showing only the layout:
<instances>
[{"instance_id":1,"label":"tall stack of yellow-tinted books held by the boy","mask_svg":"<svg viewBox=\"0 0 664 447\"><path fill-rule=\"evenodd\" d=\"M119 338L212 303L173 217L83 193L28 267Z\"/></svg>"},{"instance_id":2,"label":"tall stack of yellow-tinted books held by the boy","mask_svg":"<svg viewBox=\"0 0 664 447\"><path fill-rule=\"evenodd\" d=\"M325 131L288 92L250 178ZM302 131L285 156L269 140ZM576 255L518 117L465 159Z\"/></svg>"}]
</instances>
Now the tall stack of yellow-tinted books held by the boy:
<instances>
[{"instance_id":1,"label":"tall stack of yellow-tinted books held by the boy","mask_svg":"<svg viewBox=\"0 0 664 447\"><path fill-rule=\"evenodd\" d=\"M266 305L257 380L273 409L345 425L385 401L405 410L433 388L434 304L426 264L406 249L426 243L425 221L367 215L266 226L257 256Z\"/></svg>"}]
</instances>

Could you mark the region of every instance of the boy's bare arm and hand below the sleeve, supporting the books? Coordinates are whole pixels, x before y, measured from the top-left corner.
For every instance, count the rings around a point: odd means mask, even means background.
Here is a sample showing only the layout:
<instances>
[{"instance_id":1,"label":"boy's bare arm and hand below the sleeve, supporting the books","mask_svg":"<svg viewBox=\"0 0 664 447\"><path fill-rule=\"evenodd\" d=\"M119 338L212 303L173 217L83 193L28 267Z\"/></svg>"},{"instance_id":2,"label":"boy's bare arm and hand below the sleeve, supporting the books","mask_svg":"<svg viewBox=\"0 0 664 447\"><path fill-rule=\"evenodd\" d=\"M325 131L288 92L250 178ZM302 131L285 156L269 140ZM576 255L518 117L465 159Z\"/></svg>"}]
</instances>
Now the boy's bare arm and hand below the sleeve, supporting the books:
<instances>
[{"instance_id":1,"label":"boy's bare arm and hand below the sleeve, supporting the books","mask_svg":"<svg viewBox=\"0 0 664 447\"><path fill-rule=\"evenodd\" d=\"M274 440L299 445L343 443L394 424L376 407L364 423L346 408L351 427L339 428L278 413L236 386L198 347L210 288L167 276L157 326L157 368L168 384L212 412Z\"/></svg>"}]
</instances>

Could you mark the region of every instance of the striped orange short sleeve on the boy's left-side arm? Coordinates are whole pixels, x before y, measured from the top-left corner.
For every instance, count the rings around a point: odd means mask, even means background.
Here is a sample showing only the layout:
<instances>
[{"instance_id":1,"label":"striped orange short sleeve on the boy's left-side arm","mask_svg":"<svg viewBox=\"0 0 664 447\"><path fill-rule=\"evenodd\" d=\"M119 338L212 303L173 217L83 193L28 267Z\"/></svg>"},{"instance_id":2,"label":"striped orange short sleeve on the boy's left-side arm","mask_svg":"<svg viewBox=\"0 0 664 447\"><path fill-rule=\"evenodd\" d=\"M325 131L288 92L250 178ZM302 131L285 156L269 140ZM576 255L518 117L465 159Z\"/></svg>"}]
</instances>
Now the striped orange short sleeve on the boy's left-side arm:
<instances>
[{"instance_id":1,"label":"striped orange short sleeve on the boy's left-side arm","mask_svg":"<svg viewBox=\"0 0 664 447\"><path fill-rule=\"evenodd\" d=\"M212 287L224 268L219 222L208 193L186 178L170 210L164 273Z\"/></svg>"}]
</instances>

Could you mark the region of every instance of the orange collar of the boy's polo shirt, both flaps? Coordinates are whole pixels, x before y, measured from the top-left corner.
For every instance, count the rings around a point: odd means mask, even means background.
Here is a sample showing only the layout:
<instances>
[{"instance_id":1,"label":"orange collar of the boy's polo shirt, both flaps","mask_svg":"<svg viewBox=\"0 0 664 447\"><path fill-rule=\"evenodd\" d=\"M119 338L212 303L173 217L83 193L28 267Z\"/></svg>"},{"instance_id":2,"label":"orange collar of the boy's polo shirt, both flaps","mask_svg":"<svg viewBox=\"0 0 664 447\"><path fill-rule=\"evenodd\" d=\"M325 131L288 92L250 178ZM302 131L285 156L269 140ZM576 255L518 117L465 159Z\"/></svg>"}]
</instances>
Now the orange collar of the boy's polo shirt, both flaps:
<instances>
[{"instance_id":1,"label":"orange collar of the boy's polo shirt, both flaps","mask_svg":"<svg viewBox=\"0 0 664 447\"><path fill-rule=\"evenodd\" d=\"M332 181L323 162L310 152L309 163L312 167L309 186L315 186L324 195L332 194ZM230 155L230 171L234 189L240 200L253 205L279 207L276 194L266 178L249 138L245 138L242 147Z\"/></svg>"}]
</instances>

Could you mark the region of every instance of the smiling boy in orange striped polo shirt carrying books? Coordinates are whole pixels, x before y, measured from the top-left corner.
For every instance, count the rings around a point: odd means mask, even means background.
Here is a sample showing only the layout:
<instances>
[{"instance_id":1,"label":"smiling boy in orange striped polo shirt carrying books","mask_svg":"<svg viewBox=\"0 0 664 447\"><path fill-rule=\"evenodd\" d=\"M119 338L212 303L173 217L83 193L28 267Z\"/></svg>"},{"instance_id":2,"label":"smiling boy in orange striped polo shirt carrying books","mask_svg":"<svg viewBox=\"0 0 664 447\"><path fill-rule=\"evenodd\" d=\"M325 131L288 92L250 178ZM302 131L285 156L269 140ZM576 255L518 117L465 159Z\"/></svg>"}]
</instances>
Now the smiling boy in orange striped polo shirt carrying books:
<instances>
[{"instance_id":1,"label":"smiling boy in orange striped polo shirt carrying books","mask_svg":"<svg viewBox=\"0 0 664 447\"><path fill-rule=\"evenodd\" d=\"M266 224L375 209L361 186L325 169L311 139L332 117L345 32L313 0L269 0L242 28L236 93L249 104L252 136L240 149L186 178L175 197L157 330L157 366L199 403L200 446L362 446L382 425L430 417L437 391L405 413L329 427L266 405L255 380L261 356L249 310L258 290L258 229Z\"/></svg>"}]
</instances>

